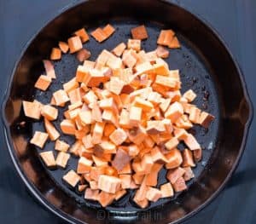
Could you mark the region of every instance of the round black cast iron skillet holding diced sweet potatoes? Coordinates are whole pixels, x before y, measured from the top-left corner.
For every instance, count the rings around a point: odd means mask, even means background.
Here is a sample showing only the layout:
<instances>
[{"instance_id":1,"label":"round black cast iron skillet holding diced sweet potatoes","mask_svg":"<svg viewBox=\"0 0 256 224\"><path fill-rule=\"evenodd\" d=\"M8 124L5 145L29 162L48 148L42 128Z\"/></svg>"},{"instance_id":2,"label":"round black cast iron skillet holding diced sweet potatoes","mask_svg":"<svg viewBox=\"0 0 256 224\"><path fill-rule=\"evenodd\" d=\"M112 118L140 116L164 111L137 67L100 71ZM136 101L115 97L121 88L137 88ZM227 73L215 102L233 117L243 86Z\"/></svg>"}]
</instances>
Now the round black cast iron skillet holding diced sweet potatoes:
<instances>
[{"instance_id":1,"label":"round black cast iron skillet holding diced sweet potatoes","mask_svg":"<svg viewBox=\"0 0 256 224\"><path fill-rule=\"evenodd\" d=\"M139 209L132 202L133 192L106 210L73 192L61 181L61 176L68 169L76 168L76 158L69 161L65 170L46 169L38 158L40 150L28 143L33 132L44 130L44 127L41 122L26 118L21 110L23 100L37 99L49 103L52 92L61 89L60 81L73 78L79 62L75 55L65 55L55 63L59 82L55 81L47 93L33 88L38 76L44 72L42 60L49 58L50 49L83 26L90 31L108 22L117 28L113 37L102 44L92 38L90 43L85 43L84 47L92 52L92 60L102 49L110 50L117 43L125 42L130 37L131 27L139 24L148 27L149 38L143 42L143 49L147 51L155 49L160 29L172 28L177 32L182 48L172 50L167 61L172 69L180 69L182 91L194 89L198 95L195 104L216 117L210 129L195 127L190 130L205 150L201 163L194 169L195 179L189 182L189 190L150 204L147 210ZM6 141L21 178L42 204L70 222L166 223L183 221L194 215L230 179L243 152L251 118L252 106L241 72L216 32L188 11L155 0L91 0L63 12L27 44L16 63L3 102ZM26 121L26 124L20 125L21 121ZM73 138L67 136L62 139L73 142ZM53 143L47 142L45 148L53 149ZM163 171L159 182L165 181Z\"/></svg>"}]
</instances>

